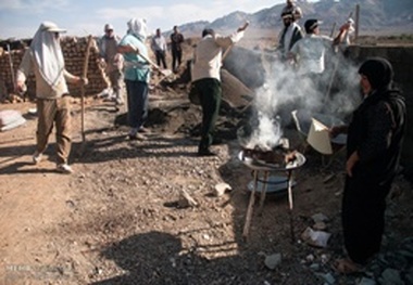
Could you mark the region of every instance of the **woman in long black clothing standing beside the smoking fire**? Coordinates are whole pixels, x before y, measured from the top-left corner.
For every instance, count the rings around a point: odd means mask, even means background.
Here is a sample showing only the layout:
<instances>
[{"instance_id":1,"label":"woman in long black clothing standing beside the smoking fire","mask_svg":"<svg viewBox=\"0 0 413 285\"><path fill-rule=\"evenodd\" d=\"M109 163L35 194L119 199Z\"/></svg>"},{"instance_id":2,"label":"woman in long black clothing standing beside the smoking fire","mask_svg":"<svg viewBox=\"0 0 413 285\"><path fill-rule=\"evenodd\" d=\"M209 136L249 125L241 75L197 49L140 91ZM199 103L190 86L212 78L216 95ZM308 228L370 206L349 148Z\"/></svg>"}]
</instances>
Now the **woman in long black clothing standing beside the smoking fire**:
<instances>
[{"instance_id":1,"label":"woman in long black clothing standing beside the smoking fire","mask_svg":"<svg viewBox=\"0 0 413 285\"><path fill-rule=\"evenodd\" d=\"M330 129L331 137L348 133L346 183L341 205L348 257L336 261L340 273L354 273L380 249L386 197L398 173L406 129L405 100L393 88L391 64L366 60L359 68L363 102L351 124Z\"/></svg>"}]
</instances>

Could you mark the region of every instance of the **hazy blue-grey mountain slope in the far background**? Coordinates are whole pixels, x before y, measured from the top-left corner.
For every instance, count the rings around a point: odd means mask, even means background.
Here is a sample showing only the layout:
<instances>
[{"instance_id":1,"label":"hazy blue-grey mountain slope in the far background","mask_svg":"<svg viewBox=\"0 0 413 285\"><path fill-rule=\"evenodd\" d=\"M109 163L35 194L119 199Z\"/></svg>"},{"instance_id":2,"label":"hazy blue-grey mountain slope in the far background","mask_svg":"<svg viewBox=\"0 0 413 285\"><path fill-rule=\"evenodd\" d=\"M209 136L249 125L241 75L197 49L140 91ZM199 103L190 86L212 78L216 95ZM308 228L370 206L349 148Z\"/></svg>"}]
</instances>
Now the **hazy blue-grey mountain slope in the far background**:
<instances>
[{"instance_id":1,"label":"hazy blue-grey mountain slope in the far background","mask_svg":"<svg viewBox=\"0 0 413 285\"><path fill-rule=\"evenodd\" d=\"M413 34L413 0L321 0L318 2L298 1L303 12L304 24L308 18L318 18L324 22L325 31L330 30L334 23L341 25L351 14L355 18L355 5L360 4L360 34L389 31ZM246 20L255 29L278 30L281 27L280 11L283 4L263 9L256 13L233 12L214 22L197 22L182 25L180 30L188 36L200 36L204 27L216 30L234 30Z\"/></svg>"}]
</instances>

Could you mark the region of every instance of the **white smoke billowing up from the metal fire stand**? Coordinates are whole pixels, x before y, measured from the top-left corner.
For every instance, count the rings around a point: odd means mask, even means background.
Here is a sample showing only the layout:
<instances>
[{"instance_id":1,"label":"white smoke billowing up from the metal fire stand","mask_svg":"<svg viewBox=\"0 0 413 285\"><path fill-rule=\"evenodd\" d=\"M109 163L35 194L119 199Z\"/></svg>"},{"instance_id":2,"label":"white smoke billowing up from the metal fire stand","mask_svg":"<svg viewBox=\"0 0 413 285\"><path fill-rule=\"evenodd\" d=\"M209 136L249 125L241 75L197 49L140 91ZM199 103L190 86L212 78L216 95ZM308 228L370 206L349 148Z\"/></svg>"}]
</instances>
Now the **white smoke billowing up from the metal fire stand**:
<instances>
[{"instance_id":1,"label":"white smoke billowing up from the metal fire stand","mask_svg":"<svg viewBox=\"0 0 413 285\"><path fill-rule=\"evenodd\" d=\"M292 65L265 53L262 60L267 66L266 77L265 83L255 90L255 117L251 118L252 131L245 145L248 148L267 150L278 145L283 128L291 122L291 112L297 108L308 114L330 114L345 121L360 103L358 69L342 54L326 57L321 91L309 77L298 75Z\"/></svg>"}]
</instances>

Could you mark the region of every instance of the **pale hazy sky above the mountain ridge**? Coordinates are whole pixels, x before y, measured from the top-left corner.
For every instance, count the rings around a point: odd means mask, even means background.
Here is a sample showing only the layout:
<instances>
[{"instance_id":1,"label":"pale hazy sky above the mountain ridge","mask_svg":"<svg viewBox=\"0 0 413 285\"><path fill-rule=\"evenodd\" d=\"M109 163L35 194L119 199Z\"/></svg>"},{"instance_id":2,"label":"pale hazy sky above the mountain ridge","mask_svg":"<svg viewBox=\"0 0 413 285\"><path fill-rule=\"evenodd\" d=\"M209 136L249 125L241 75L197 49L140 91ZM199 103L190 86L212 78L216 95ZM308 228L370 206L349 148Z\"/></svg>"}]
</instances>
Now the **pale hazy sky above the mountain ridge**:
<instances>
[{"instance_id":1,"label":"pale hazy sky above the mountain ridge","mask_svg":"<svg viewBox=\"0 0 413 285\"><path fill-rule=\"evenodd\" d=\"M145 17L150 33L196 21L214 21L235 11L254 13L285 0L1 0L0 39L32 38L43 21L67 29L67 35L103 34L105 23L123 36L126 22Z\"/></svg>"}]
</instances>

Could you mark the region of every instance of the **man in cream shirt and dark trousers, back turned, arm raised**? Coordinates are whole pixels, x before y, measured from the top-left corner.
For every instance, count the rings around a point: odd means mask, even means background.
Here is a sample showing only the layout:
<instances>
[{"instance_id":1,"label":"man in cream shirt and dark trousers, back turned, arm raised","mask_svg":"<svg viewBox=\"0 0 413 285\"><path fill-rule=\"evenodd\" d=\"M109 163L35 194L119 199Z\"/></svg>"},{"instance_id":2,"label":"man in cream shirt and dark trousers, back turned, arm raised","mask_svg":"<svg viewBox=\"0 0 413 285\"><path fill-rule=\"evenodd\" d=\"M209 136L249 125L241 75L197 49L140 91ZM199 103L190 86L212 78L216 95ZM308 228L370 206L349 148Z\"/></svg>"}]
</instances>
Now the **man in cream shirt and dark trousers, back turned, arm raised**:
<instances>
[{"instance_id":1,"label":"man in cream shirt and dark trousers, back turned, arm raised","mask_svg":"<svg viewBox=\"0 0 413 285\"><path fill-rule=\"evenodd\" d=\"M197 44L191 69L192 87L199 94L202 107L201 140L198 146L199 156L212 156L210 146L213 142L215 122L218 116L222 99L220 69L222 51L229 48L243 37L247 26L240 27L230 36L215 34L205 28L202 39Z\"/></svg>"}]
</instances>

